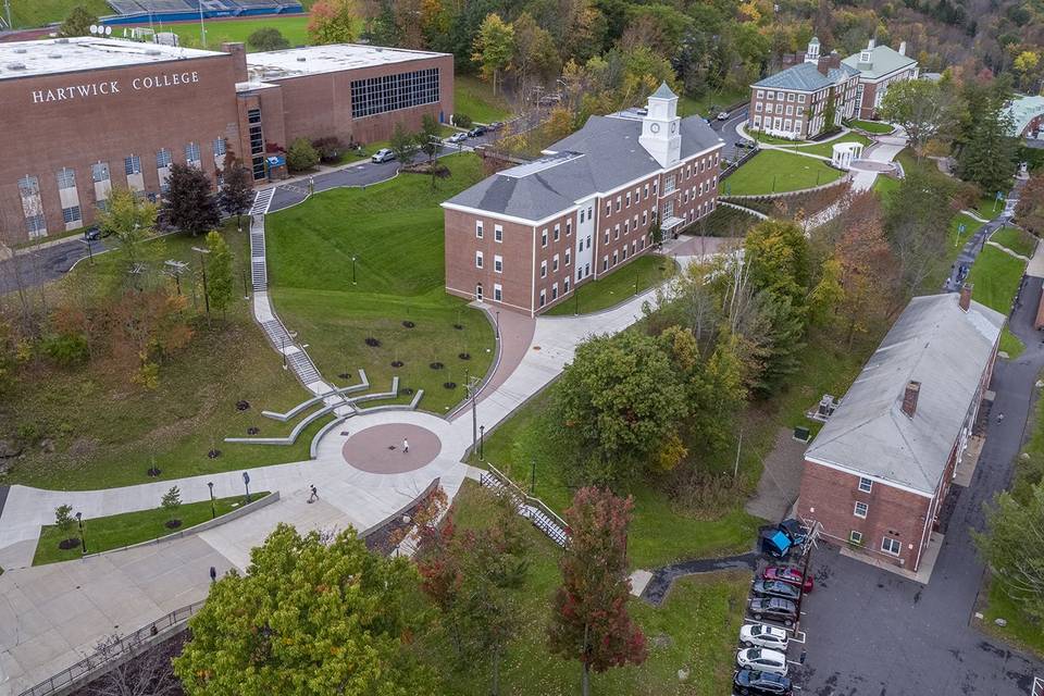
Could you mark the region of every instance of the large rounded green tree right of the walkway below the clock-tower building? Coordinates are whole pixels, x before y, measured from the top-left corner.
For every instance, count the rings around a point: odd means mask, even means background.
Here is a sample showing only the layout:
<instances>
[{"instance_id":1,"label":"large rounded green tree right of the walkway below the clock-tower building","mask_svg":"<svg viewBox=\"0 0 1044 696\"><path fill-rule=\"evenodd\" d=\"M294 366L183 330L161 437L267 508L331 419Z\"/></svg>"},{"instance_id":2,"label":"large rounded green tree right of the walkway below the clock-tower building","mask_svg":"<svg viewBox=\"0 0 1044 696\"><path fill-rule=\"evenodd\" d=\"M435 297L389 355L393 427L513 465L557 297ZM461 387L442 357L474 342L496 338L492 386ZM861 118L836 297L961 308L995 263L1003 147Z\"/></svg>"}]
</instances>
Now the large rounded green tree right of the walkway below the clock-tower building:
<instances>
[{"instance_id":1,"label":"large rounded green tree right of the walkway below the clock-tower building","mask_svg":"<svg viewBox=\"0 0 1044 696\"><path fill-rule=\"evenodd\" d=\"M581 483L633 481L685 413L684 389L656 339L637 332L581 344L559 390L561 421L580 447Z\"/></svg>"}]
</instances>

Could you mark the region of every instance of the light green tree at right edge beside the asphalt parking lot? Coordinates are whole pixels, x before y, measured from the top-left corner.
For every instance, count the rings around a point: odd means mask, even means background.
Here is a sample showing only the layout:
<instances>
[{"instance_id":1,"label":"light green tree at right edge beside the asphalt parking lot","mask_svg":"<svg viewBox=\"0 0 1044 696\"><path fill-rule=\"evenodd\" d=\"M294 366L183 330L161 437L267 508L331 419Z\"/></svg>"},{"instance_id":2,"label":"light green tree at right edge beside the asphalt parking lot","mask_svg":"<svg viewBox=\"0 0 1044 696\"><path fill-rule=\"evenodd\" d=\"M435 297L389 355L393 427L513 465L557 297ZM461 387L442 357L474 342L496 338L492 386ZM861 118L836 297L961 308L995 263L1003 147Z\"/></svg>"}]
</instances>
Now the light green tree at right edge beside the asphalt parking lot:
<instances>
[{"instance_id":1,"label":"light green tree at right edge beside the asphalt parking lot","mask_svg":"<svg viewBox=\"0 0 1044 696\"><path fill-rule=\"evenodd\" d=\"M1044 621L1044 484L1024 501L1003 492L985 511L985 532L973 532L979 555L1027 614Z\"/></svg>"}]
</instances>

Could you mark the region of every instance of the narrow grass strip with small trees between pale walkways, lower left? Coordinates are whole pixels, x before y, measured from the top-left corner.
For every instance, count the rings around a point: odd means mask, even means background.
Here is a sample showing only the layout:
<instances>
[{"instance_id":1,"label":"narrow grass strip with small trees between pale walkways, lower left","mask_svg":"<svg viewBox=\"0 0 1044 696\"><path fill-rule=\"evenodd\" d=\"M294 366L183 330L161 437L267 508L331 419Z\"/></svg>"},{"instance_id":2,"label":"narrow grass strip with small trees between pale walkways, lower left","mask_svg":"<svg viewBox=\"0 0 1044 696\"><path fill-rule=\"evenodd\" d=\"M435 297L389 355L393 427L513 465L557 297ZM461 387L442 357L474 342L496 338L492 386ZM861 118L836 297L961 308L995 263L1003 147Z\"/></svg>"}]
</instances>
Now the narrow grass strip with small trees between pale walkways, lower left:
<instances>
[{"instance_id":1,"label":"narrow grass strip with small trees between pale walkways, lower left","mask_svg":"<svg viewBox=\"0 0 1044 696\"><path fill-rule=\"evenodd\" d=\"M251 500L259 500L269 495L266 490L253 493ZM157 500L159 502L159 500ZM100 554L101 551L111 551L114 548L130 546L141 542L173 534L181 530L187 530L190 526L201 524L213 517L216 511L219 515L232 512L246 499L243 496L232 498L219 498L214 501L213 510L210 500L202 502L187 502L177 509L175 519L182 523L175 529L166 526L170 521L170 513L163 508L153 510L139 510L137 512L124 512L105 518L84 519L84 537L87 539L87 552ZM83 546L77 544L71 549L63 550L59 547L66 538L80 538L79 531L74 522L70 533L63 533L53 524L45 525L40 530L40 539L36 544L36 555L33 557L34 566L44 566L45 563L57 563L59 561L70 561L79 558L83 555Z\"/></svg>"}]
</instances>

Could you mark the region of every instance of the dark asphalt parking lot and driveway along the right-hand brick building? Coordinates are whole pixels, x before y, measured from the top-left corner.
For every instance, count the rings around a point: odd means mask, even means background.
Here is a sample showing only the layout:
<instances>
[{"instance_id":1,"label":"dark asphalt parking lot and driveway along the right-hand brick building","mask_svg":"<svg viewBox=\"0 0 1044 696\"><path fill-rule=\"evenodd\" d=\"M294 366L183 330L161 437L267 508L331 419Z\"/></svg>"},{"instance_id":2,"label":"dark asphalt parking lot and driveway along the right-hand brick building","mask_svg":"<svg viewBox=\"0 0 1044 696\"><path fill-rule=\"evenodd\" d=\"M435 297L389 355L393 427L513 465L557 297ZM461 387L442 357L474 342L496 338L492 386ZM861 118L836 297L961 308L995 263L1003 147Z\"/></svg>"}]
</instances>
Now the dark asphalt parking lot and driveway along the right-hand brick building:
<instances>
[{"instance_id":1,"label":"dark asphalt parking lot and driveway along the right-hand brick building","mask_svg":"<svg viewBox=\"0 0 1044 696\"><path fill-rule=\"evenodd\" d=\"M1041 279L1027 281L1027 297ZM1031 322L1035 303L1016 310L1011 331L1027 344L1014 361L999 361L987 437L971 485L959 494L934 573L920 585L894 573L817 550L817 588L803 607L808 661L801 678L816 696L1027 696L1044 664L973 629L983 576L970 530L983 527L983 502L1006 488L1044 368L1044 345ZM952 493L950 495L954 495Z\"/></svg>"}]
</instances>

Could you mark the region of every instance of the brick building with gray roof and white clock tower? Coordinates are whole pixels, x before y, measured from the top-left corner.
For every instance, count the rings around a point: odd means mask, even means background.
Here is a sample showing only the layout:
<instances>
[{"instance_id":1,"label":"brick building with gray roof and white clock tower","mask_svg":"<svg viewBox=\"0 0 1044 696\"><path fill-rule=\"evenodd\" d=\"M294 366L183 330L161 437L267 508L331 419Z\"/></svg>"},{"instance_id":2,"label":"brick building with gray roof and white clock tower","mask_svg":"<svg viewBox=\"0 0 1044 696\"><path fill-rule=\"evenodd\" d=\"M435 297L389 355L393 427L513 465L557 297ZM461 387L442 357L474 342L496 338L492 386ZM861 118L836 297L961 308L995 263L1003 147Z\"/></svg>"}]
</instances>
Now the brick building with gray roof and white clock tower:
<instances>
[{"instance_id":1,"label":"brick building with gray roof and white clock tower","mask_svg":"<svg viewBox=\"0 0 1044 696\"><path fill-rule=\"evenodd\" d=\"M539 159L443 203L446 290L526 314L570 297L710 214L724 142L681 119L660 85L646 109L592 116Z\"/></svg>"}]
</instances>

